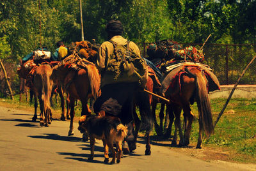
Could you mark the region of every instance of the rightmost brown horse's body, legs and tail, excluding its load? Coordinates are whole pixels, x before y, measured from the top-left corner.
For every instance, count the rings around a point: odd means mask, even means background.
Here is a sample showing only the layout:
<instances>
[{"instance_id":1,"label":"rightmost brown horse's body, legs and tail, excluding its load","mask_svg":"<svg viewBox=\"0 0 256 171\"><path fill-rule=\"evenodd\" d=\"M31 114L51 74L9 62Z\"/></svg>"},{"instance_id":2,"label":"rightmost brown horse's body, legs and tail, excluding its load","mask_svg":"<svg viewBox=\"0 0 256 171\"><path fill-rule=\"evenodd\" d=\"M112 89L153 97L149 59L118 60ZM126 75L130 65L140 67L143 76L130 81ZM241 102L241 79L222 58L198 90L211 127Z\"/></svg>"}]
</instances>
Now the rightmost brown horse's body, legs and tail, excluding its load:
<instances>
[{"instance_id":1,"label":"rightmost brown horse's body, legs and tail, excluding its load","mask_svg":"<svg viewBox=\"0 0 256 171\"><path fill-rule=\"evenodd\" d=\"M194 114L191 112L190 104L196 101L198 105L199 135L196 148L202 148L202 131L209 137L214 132L212 124L211 105L208 97L207 78L204 70L196 66L184 66L184 72L180 72L164 95L170 99L168 112L174 112L175 132L172 145L177 144L177 129L179 129L179 145L188 145L193 123ZM184 112L185 130L184 135L180 124L180 113Z\"/></svg>"}]
</instances>

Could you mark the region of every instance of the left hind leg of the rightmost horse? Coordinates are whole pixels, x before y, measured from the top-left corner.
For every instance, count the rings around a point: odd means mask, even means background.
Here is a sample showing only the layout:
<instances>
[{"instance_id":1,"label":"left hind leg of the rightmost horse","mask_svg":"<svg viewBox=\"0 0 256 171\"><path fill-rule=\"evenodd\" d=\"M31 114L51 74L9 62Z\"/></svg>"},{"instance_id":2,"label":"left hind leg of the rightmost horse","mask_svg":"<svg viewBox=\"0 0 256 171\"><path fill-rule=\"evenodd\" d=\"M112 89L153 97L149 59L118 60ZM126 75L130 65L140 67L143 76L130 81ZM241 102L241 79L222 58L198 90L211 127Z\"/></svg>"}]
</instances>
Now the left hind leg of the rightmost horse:
<instances>
[{"instance_id":1,"label":"left hind leg of the rightmost horse","mask_svg":"<svg viewBox=\"0 0 256 171\"><path fill-rule=\"evenodd\" d=\"M193 123L194 115L191 112L191 108L189 107L189 103L186 103L186 105L183 105L183 112L184 112L184 122L185 124L185 132L184 132L184 145L189 144L189 137L191 132L191 126Z\"/></svg>"}]
</instances>

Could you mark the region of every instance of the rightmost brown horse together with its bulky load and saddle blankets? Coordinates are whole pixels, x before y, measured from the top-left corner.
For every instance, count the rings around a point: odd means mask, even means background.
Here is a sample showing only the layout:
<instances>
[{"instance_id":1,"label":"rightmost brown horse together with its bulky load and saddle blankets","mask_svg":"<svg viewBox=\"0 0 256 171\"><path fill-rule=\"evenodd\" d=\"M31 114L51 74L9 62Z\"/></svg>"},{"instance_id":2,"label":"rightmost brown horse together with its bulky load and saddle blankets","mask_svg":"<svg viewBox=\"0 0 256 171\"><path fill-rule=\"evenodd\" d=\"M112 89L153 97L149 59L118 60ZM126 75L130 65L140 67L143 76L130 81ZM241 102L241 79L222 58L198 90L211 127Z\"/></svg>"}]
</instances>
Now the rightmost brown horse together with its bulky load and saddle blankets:
<instances>
[{"instance_id":1,"label":"rightmost brown horse together with its bulky load and saddle blankets","mask_svg":"<svg viewBox=\"0 0 256 171\"><path fill-rule=\"evenodd\" d=\"M147 48L148 59L154 61L163 72L162 87L159 93L170 100L170 103L166 103L166 110L170 117L167 133L170 133L175 115L175 133L172 144L177 144L178 128L179 144L189 144L191 124L194 117L190 105L193 105L196 101L199 116L199 135L196 148L201 148L202 131L205 131L207 137L213 133L208 93L220 89L218 78L212 73L209 66L202 64L204 54L195 47L182 48L175 41L165 40L159 41L157 45L150 44ZM162 56L159 56L159 54ZM181 110L184 112L184 134L180 125ZM152 112L154 114L154 111ZM161 112L163 112L163 109ZM160 116L163 117L163 114ZM163 121L163 118L160 120Z\"/></svg>"}]
</instances>

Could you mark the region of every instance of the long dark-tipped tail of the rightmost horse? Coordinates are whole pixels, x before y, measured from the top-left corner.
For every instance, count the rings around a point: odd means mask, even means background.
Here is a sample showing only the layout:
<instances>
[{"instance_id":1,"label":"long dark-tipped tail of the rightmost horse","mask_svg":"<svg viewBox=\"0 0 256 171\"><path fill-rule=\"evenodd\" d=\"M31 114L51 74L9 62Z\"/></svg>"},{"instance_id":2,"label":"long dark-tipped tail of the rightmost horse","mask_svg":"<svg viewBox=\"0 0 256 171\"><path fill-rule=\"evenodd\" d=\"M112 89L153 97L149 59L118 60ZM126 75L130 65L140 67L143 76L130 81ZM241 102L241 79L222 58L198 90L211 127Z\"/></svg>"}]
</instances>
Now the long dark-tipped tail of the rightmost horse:
<instances>
[{"instance_id":1,"label":"long dark-tipped tail of the rightmost horse","mask_svg":"<svg viewBox=\"0 0 256 171\"><path fill-rule=\"evenodd\" d=\"M205 135L209 137L214 133L212 124L211 104L208 97L207 82L203 77L203 71L196 72L196 103L198 105L199 124L204 128Z\"/></svg>"}]
</instances>

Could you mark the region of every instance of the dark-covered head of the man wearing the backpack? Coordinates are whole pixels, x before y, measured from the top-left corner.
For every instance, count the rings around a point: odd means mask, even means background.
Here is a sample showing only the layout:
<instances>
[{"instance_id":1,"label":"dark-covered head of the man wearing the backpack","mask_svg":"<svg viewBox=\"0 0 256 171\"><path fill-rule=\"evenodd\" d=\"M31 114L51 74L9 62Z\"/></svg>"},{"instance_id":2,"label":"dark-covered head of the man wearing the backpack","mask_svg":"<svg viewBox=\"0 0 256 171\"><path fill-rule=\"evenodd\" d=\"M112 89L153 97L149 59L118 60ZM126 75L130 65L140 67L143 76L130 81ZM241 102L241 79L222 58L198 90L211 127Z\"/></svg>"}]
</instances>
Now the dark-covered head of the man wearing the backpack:
<instances>
[{"instance_id":1,"label":"dark-covered head of the man wearing the backpack","mask_svg":"<svg viewBox=\"0 0 256 171\"><path fill-rule=\"evenodd\" d=\"M122 23L119 20L110 20L106 24L106 31L112 34L113 36L116 36L116 35L122 35L124 28Z\"/></svg>"}]
</instances>

